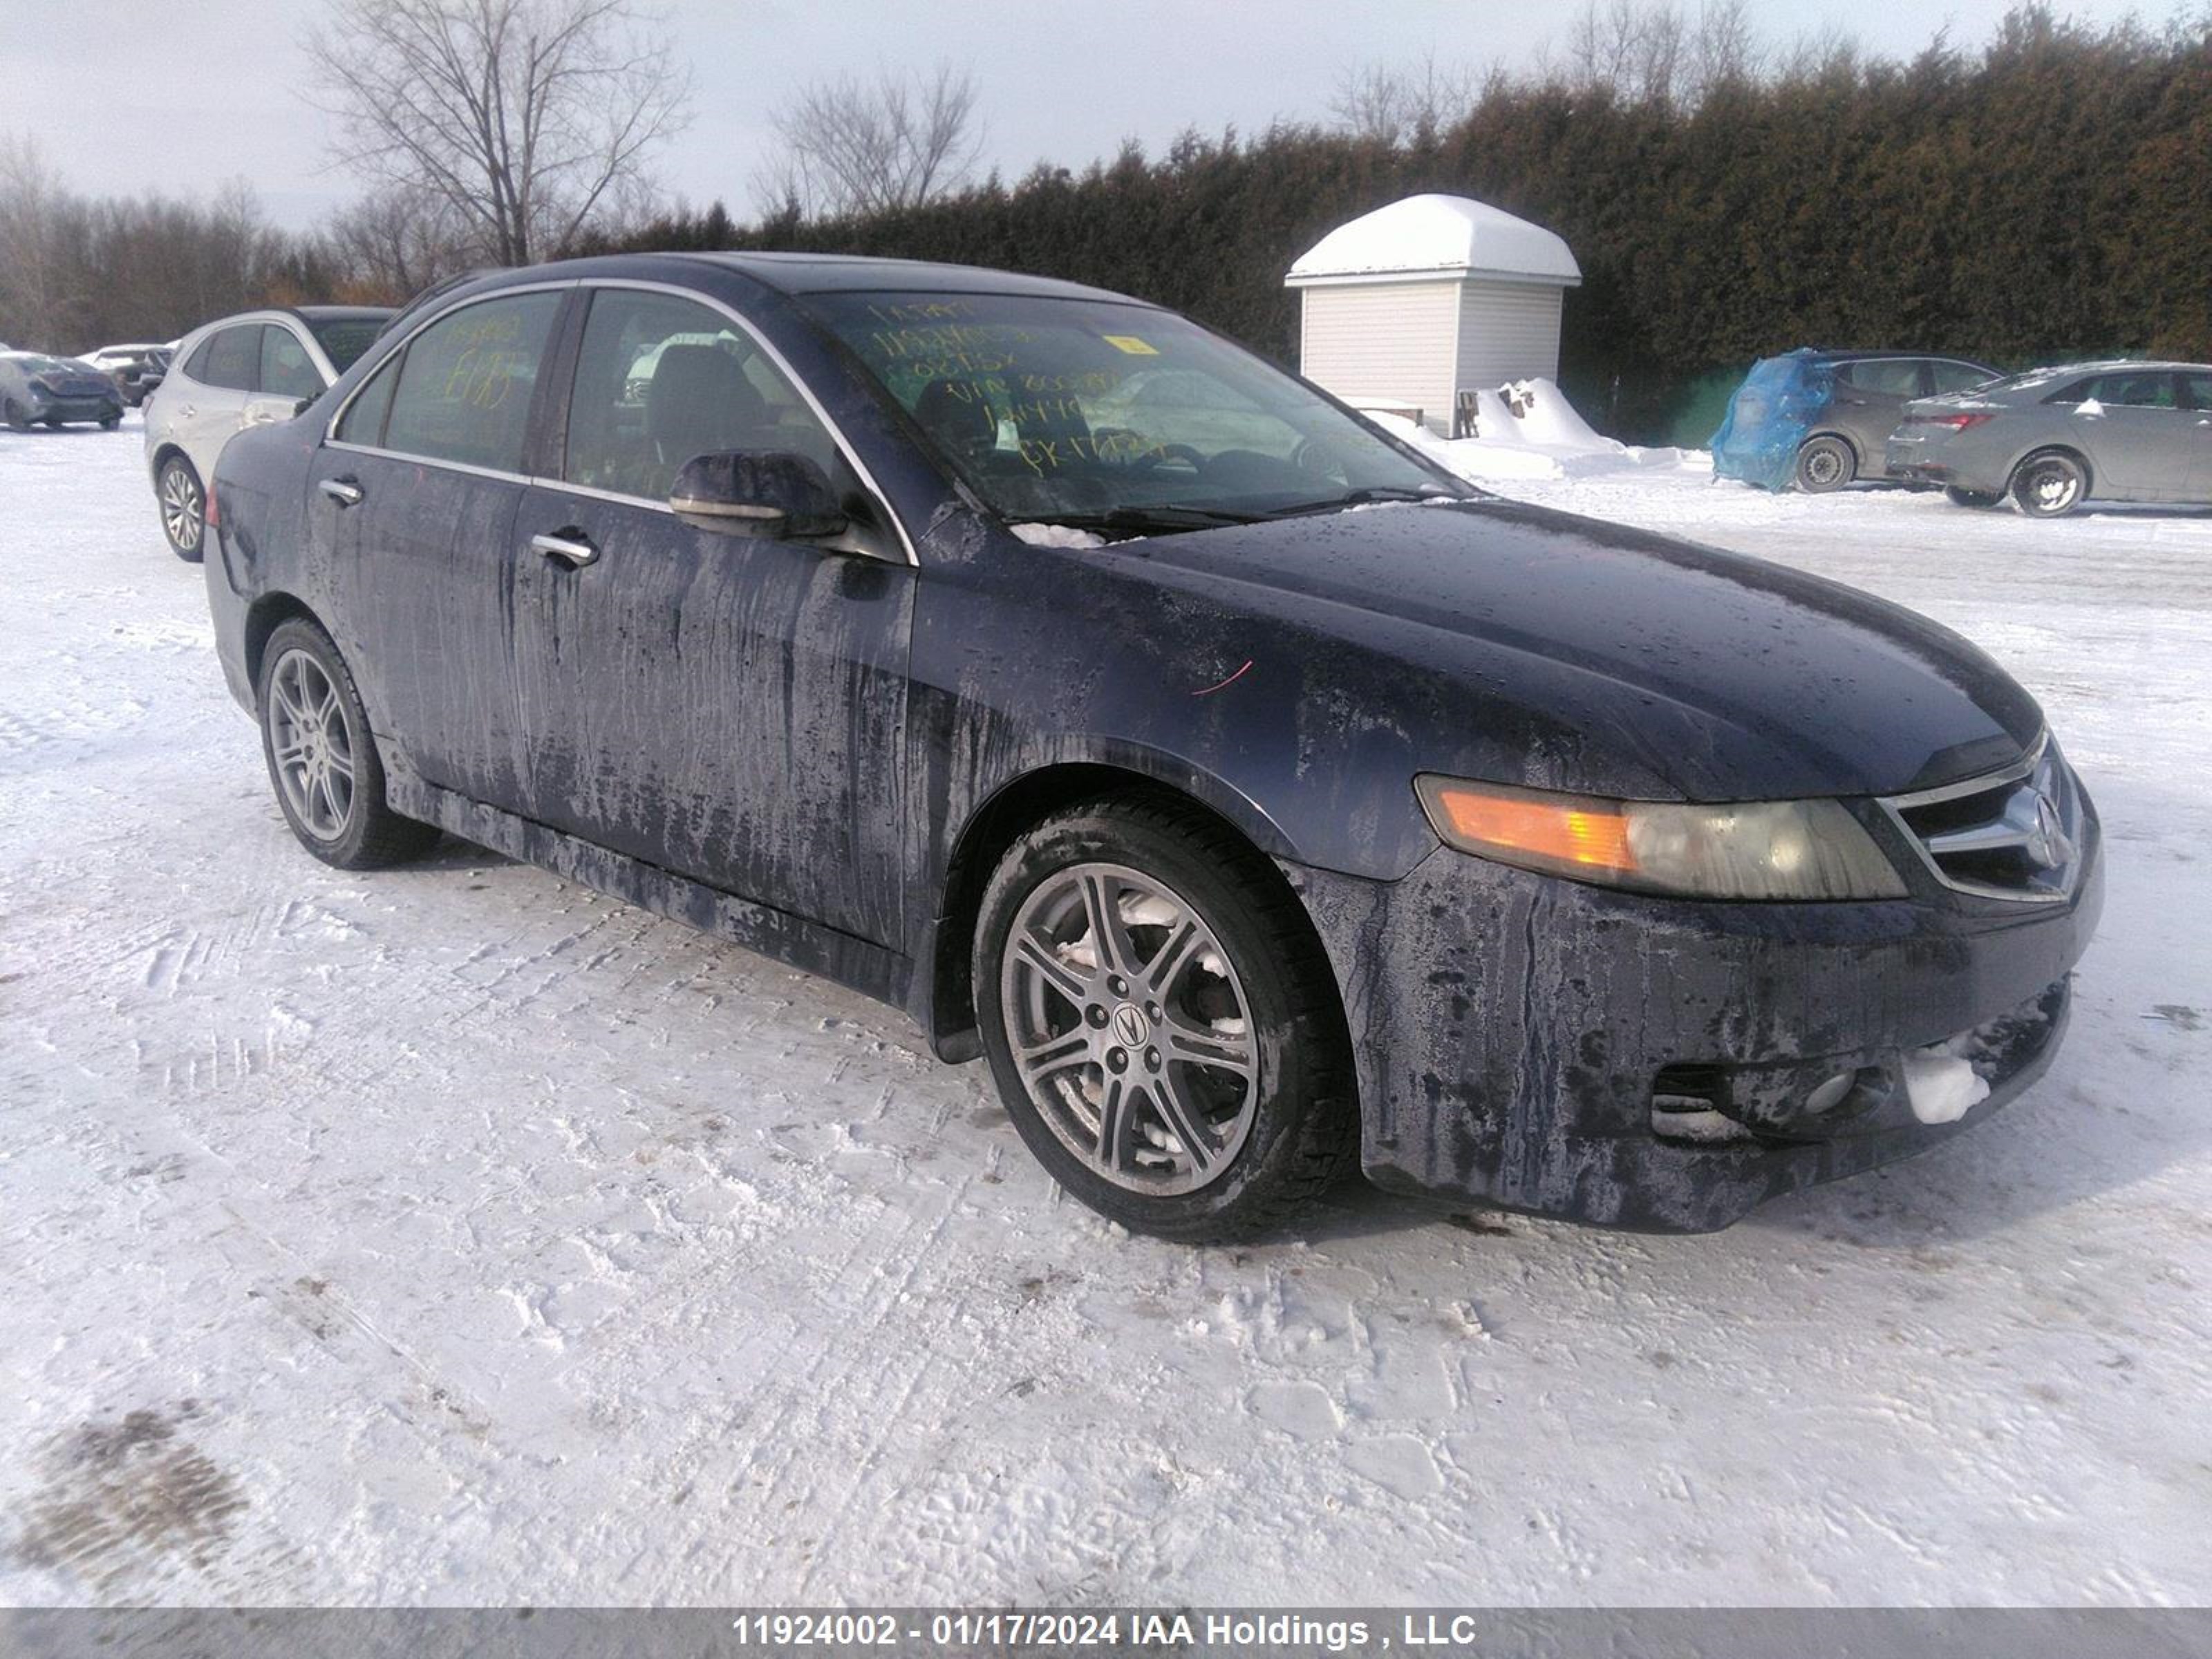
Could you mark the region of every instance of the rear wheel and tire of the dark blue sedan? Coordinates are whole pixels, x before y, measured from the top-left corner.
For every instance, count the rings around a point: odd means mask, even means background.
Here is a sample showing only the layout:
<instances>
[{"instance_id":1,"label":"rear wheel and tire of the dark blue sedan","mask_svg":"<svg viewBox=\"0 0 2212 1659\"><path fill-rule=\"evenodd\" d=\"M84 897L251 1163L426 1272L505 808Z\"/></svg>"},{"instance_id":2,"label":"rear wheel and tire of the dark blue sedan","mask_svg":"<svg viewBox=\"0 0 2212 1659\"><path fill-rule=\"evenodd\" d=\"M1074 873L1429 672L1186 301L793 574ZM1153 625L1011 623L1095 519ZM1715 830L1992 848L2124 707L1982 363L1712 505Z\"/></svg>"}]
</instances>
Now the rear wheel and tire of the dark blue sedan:
<instances>
[{"instance_id":1,"label":"rear wheel and tire of the dark blue sedan","mask_svg":"<svg viewBox=\"0 0 2212 1659\"><path fill-rule=\"evenodd\" d=\"M438 841L431 825L385 805L385 768L361 690L316 624L292 617L270 635L254 710L276 807L299 845L325 865L380 869Z\"/></svg>"}]
</instances>

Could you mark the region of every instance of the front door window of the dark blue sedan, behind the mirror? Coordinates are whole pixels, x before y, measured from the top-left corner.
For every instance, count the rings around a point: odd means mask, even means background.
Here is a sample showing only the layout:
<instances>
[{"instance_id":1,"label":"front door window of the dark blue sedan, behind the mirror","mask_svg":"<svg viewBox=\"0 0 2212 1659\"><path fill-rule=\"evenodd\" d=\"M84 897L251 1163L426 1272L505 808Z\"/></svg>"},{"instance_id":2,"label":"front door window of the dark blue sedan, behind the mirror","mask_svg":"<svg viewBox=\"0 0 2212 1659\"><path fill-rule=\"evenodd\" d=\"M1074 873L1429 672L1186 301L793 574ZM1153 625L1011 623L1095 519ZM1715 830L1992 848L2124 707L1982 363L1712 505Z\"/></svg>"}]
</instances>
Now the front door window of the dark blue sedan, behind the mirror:
<instances>
[{"instance_id":1,"label":"front door window of the dark blue sedan, behind the mirror","mask_svg":"<svg viewBox=\"0 0 2212 1659\"><path fill-rule=\"evenodd\" d=\"M830 431L728 316L675 294L595 292L562 478L666 500L686 460L732 449L799 453L838 473Z\"/></svg>"}]
</instances>

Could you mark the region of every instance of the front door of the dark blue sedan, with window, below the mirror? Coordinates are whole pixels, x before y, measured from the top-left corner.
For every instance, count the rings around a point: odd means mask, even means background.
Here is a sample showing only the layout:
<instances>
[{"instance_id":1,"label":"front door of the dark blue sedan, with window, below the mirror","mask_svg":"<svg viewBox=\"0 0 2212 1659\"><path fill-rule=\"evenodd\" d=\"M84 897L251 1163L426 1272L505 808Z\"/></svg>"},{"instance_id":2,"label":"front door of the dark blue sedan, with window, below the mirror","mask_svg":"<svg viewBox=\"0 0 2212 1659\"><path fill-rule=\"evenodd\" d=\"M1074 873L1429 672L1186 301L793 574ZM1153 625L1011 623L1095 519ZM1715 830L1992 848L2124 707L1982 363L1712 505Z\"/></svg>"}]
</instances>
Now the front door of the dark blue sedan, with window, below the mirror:
<instances>
[{"instance_id":1,"label":"front door of the dark blue sedan, with window, below the mirror","mask_svg":"<svg viewBox=\"0 0 2212 1659\"><path fill-rule=\"evenodd\" d=\"M677 520L677 469L732 449L865 495L743 325L595 290L557 482L513 526L526 814L896 947L916 573L880 507L841 546Z\"/></svg>"}]
</instances>

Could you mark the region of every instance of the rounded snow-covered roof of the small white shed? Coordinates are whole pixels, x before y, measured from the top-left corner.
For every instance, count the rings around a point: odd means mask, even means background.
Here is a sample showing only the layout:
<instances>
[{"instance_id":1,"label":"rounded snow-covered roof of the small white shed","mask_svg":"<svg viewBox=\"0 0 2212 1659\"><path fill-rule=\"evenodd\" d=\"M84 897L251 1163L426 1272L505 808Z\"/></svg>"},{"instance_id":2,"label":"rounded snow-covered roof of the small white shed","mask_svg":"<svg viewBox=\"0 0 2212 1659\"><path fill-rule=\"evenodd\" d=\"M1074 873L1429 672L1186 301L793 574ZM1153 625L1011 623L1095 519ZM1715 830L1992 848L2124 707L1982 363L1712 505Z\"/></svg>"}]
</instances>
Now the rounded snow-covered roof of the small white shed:
<instances>
[{"instance_id":1,"label":"rounded snow-covered roof of the small white shed","mask_svg":"<svg viewBox=\"0 0 2212 1659\"><path fill-rule=\"evenodd\" d=\"M1579 288L1582 268L1544 226L1471 197L1405 197L1338 226L1301 254L1287 288L1493 276Z\"/></svg>"}]
</instances>

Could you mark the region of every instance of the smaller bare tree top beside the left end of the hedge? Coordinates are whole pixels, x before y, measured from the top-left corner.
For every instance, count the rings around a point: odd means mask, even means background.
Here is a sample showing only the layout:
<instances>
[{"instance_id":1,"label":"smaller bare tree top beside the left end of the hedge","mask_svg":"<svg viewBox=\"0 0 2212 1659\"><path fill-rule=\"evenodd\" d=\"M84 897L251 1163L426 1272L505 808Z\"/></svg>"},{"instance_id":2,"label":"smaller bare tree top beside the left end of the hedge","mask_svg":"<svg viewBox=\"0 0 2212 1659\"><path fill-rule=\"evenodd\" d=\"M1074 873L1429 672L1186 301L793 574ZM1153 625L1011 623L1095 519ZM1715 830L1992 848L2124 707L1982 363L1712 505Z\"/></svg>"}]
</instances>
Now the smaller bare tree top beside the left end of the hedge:
<instances>
[{"instance_id":1,"label":"smaller bare tree top beside the left end of the hedge","mask_svg":"<svg viewBox=\"0 0 2212 1659\"><path fill-rule=\"evenodd\" d=\"M814 82L770 117L783 148L754 179L761 212L834 219L958 190L982 157L975 102L975 73L942 62Z\"/></svg>"}]
</instances>

